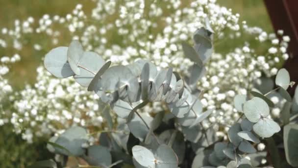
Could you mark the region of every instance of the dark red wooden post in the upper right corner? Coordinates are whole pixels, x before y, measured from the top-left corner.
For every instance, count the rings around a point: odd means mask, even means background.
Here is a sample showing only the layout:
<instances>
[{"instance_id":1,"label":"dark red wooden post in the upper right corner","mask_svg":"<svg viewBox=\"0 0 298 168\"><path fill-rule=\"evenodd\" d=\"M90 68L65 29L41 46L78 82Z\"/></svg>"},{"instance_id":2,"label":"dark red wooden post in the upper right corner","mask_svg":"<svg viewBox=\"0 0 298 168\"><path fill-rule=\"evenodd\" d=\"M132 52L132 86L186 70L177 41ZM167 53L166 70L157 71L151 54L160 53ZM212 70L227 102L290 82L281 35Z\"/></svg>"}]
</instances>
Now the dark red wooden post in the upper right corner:
<instances>
[{"instance_id":1,"label":"dark red wooden post in the upper right corner","mask_svg":"<svg viewBox=\"0 0 298 168\"><path fill-rule=\"evenodd\" d=\"M291 81L298 83L298 0L264 0L275 31L282 29L291 38L289 59L284 67L289 71ZM290 88L294 94L294 88Z\"/></svg>"}]
</instances>

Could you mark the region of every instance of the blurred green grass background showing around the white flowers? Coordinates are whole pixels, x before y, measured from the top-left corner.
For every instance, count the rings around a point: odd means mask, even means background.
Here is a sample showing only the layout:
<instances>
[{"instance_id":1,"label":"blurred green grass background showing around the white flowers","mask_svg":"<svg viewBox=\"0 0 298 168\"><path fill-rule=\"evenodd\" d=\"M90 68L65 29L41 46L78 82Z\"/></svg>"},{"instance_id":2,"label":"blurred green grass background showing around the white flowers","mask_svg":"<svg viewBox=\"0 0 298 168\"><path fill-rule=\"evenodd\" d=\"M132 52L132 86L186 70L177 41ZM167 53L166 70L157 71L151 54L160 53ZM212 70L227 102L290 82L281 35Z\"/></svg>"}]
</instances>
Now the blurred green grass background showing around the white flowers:
<instances>
[{"instance_id":1,"label":"blurred green grass background showing around the white flowers","mask_svg":"<svg viewBox=\"0 0 298 168\"><path fill-rule=\"evenodd\" d=\"M189 0L190 1L190 0ZM270 18L262 0L217 0L219 4L231 8L233 13L239 13L241 21L247 21L249 26L257 26L267 32L273 32ZM29 16L35 19L41 18L44 14L62 15L72 12L77 3L83 4L83 10L88 15L91 12L95 2L91 0L0 0L0 28L13 27L16 19L24 20ZM0 35L1 36L1 35ZM28 41L20 53L21 61L13 65L13 73L9 74L10 81L14 89L21 89L25 84L34 84L36 78L36 67L42 64L42 58L48 51L33 50L34 41L43 43L45 37L31 39L25 37ZM68 44L71 37L65 34L64 44ZM60 41L60 44L63 43ZM226 53L233 45L243 44L242 39L221 43L217 47L217 52ZM250 37L245 38L253 45ZM228 47L230 46L230 47ZM257 50L262 50L258 46ZM0 56L11 55L5 49L0 48ZM12 51L11 51L12 52ZM16 78L18 77L18 78ZM28 144L22 140L21 136L15 136L11 133L9 125L0 127L0 168L25 168L35 160L49 158L50 153L46 149L46 140L40 140L39 143Z\"/></svg>"}]
</instances>

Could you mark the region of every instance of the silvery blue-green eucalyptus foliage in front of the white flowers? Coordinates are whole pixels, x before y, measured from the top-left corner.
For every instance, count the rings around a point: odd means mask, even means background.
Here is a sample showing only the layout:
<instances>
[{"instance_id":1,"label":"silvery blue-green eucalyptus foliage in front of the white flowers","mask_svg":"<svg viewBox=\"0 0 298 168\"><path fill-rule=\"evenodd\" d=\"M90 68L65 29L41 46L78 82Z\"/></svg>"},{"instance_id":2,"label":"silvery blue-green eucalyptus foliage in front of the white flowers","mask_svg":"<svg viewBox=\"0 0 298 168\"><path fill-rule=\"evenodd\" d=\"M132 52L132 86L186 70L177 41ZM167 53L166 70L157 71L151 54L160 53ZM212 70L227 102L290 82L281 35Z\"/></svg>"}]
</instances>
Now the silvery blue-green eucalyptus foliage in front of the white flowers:
<instances>
[{"instance_id":1,"label":"silvery blue-green eucalyptus foliage in front of the white flowers","mask_svg":"<svg viewBox=\"0 0 298 168\"><path fill-rule=\"evenodd\" d=\"M203 108L199 100L202 92L197 87L213 51L213 30L208 20L205 27L195 32L194 47L182 43L184 55L194 62L185 79L178 77L171 67L159 69L144 59L126 66L111 66L111 61L103 60L98 54L83 51L77 40L69 47L51 50L44 61L46 69L58 78L74 76L77 83L98 94L99 110L109 130L100 134L99 145L88 147L90 135L84 128L75 126L52 137L48 149L81 157L89 165L103 168L119 164L136 168L177 168L185 163L188 167L192 163L192 168L258 167L267 152L257 152L252 143L260 143L280 131L278 120L270 117L275 105L269 98L279 89L276 94L286 100L281 114L282 123L288 124L284 131L286 156L291 165L296 165L293 158L297 154L289 148L294 145L289 140L292 136L289 132L296 135L295 108L291 112L291 107L298 107L298 93L292 100L286 91L291 83L285 69L277 73L275 84L280 86L277 89L271 91L271 79L262 78L250 94L235 96L235 109L242 115L227 131L228 140L220 141L216 135L222 128L202 126L201 122L213 112ZM270 86L264 88L264 84ZM138 112L152 102L163 102L168 110L152 115ZM113 112L116 117L111 115ZM295 138L297 136L291 137ZM187 157L189 151L196 154L193 161ZM250 161L245 156L249 156Z\"/></svg>"}]
</instances>

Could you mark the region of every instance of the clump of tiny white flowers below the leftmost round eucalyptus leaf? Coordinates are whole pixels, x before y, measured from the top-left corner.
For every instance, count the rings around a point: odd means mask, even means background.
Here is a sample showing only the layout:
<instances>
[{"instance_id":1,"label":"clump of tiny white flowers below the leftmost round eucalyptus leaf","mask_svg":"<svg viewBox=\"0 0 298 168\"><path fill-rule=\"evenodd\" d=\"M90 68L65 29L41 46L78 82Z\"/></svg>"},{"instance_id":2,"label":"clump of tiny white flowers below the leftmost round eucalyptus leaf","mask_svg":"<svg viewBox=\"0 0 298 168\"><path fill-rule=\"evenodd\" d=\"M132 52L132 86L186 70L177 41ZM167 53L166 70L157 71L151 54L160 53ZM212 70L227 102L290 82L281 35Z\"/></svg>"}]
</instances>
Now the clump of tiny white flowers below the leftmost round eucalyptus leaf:
<instances>
[{"instance_id":1,"label":"clump of tiny white flowers below the leftmost round eucalyptus leaf","mask_svg":"<svg viewBox=\"0 0 298 168\"><path fill-rule=\"evenodd\" d=\"M74 79L53 79L43 67L37 68L37 83L16 92L10 122L16 133L25 127L23 138L32 142L33 136L50 135L71 125L101 128L102 117L98 99L83 89Z\"/></svg>"}]
</instances>

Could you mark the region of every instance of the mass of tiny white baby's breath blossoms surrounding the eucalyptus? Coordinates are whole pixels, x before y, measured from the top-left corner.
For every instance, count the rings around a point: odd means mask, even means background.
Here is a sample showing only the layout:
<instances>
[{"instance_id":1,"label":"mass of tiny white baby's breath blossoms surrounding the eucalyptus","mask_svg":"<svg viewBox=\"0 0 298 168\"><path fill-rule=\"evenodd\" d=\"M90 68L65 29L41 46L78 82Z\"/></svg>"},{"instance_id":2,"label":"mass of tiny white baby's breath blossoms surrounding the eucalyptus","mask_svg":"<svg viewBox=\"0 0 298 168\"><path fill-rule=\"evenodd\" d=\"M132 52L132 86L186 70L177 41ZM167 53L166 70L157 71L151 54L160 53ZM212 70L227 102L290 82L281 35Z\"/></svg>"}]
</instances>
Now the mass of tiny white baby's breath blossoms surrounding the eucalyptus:
<instances>
[{"instance_id":1,"label":"mass of tiny white baby's breath blossoms surrounding the eucalyptus","mask_svg":"<svg viewBox=\"0 0 298 168\"><path fill-rule=\"evenodd\" d=\"M193 43L193 33L205 26L208 18L214 30L215 53L206 64L207 74L198 87L204 90L201 100L204 107L216 108L216 112L204 123L206 127L211 123L228 125L238 119L233 97L247 93L262 74L266 77L275 75L275 65L289 57L286 53L289 37L282 36L282 31L278 31L282 37L278 38L275 34L268 35L261 28L248 27L246 22L239 23L239 14L218 5L216 0L194 0L190 3L183 0L94 1L96 6L91 16L87 16L83 6L78 4L66 16L46 14L37 24L33 24L35 19L32 17L23 22L16 20L14 28L1 29L3 38L0 38L0 47L21 50L23 36L44 34L47 37L43 38L49 41L36 41L32 46L38 51L49 51L52 46L63 43L61 36L69 35L79 39L86 50L96 51L115 64L126 65L142 57L160 67L173 66L174 70L185 75L192 62L183 56L180 43ZM257 43L265 43L267 52L257 53L247 42L230 49L231 52L226 55L216 53L217 44L223 38L243 38L243 34L251 35ZM1 58L1 62L6 61L7 58ZM97 112L98 98L93 93L87 92L73 79L55 79L42 67L37 71L38 82L34 86L26 86L10 96L13 106L2 110L0 124L9 120L15 126L15 132L22 133L29 142L34 136L59 132L72 124L101 126L102 117ZM0 74L7 72L8 69L0 65ZM1 75L0 78L0 86L7 85ZM7 99L1 94L0 100L3 98ZM147 107L147 110L151 109Z\"/></svg>"}]
</instances>

